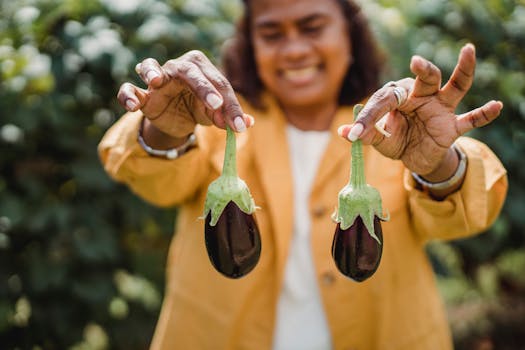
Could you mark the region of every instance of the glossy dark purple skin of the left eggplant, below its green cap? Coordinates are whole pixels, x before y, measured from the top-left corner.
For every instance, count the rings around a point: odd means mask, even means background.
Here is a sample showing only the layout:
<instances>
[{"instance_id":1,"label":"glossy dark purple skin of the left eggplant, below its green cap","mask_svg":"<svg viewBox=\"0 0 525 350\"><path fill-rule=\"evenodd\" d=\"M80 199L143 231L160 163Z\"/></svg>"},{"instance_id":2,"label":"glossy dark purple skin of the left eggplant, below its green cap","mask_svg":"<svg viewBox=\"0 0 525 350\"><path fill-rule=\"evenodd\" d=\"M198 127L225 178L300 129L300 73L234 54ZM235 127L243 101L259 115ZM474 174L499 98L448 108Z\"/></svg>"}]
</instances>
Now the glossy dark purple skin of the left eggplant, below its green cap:
<instances>
[{"instance_id":1,"label":"glossy dark purple skin of the left eggplant, below its green cap","mask_svg":"<svg viewBox=\"0 0 525 350\"><path fill-rule=\"evenodd\" d=\"M249 273L261 255L261 236L253 214L246 214L228 202L215 226L206 216L204 238L210 261L217 271L229 278Z\"/></svg>"}]
</instances>

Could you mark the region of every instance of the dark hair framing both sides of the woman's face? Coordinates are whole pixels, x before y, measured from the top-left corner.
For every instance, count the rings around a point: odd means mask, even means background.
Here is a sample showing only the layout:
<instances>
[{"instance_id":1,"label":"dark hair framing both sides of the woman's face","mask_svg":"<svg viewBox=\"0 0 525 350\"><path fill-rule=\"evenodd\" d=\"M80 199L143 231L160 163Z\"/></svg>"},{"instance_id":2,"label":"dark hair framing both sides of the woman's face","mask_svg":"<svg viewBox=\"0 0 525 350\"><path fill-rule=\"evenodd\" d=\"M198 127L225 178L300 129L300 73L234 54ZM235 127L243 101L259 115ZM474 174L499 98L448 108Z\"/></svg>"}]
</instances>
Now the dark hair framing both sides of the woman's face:
<instances>
[{"instance_id":1,"label":"dark hair framing both sides of the woman's face","mask_svg":"<svg viewBox=\"0 0 525 350\"><path fill-rule=\"evenodd\" d=\"M251 41L251 2L243 0L244 15L236 31L223 50L224 73L235 91L255 107L263 108L261 93L263 83L257 74ZM352 0L335 0L348 21L348 38L352 47L353 63L350 65L339 95L339 104L353 105L368 97L379 87L384 56L371 32L361 8Z\"/></svg>"}]
</instances>

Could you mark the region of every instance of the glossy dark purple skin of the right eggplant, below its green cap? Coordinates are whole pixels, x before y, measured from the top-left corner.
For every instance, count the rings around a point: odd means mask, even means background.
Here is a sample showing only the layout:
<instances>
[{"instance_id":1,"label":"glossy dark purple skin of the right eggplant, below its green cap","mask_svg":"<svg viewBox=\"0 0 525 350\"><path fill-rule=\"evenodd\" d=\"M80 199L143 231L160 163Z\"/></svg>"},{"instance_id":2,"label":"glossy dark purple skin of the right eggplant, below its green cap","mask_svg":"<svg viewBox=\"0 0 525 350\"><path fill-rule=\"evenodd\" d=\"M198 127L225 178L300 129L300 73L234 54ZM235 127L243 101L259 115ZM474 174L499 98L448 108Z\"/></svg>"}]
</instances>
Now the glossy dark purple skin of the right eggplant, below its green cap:
<instances>
[{"instance_id":1,"label":"glossy dark purple skin of the right eggplant, below its green cap","mask_svg":"<svg viewBox=\"0 0 525 350\"><path fill-rule=\"evenodd\" d=\"M383 243L381 222L377 216L374 217L374 230ZM346 230L342 230L340 224L337 224L332 242L332 257L345 276L363 282L376 272L382 253L383 244L370 236L360 216Z\"/></svg>"}]
</instances>

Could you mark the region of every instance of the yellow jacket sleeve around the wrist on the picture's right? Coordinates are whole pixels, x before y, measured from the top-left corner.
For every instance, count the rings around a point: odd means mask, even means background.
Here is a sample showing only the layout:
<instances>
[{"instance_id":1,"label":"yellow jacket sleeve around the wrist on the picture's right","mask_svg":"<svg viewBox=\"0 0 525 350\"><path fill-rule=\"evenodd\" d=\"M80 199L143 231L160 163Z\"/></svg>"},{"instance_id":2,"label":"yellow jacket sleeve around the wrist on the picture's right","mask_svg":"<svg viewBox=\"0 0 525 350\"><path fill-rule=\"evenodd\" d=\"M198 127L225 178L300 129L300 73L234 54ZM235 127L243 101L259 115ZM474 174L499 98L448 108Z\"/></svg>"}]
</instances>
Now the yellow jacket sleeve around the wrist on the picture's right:
<instances>
[{"instance_id":1,"label":"yellow jacket sleeve around the wrist on the picture's right","mask_svg":"<svg viewBox=\"0 0 525 350\"><path fill-rule=\"evenodd\" d=\"M433 200L417 190L410 172L405 171L412 224L423 241L480 233L494 223L505 202L507 175L499 159L474 139L461 137L457 144L468 157L467 172L461 189L444 200Z\"/></svg>"}]
</instances>

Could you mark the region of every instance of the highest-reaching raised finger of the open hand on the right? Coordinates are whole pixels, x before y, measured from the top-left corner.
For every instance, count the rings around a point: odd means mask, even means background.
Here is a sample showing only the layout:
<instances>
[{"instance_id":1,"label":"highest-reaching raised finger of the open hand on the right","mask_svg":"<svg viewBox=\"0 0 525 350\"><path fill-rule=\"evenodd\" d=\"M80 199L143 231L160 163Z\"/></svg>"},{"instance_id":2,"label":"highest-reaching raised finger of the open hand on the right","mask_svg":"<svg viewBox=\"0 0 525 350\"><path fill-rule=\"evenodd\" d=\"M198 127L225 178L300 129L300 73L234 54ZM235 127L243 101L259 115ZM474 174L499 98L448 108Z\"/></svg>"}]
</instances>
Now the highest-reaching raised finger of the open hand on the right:
<instances>
[{"instance_id":1,"label":"highest-reaching raised finger of the open hand on the right","mask_svg":"<svg viewBox=\"0 0 525 350\"><path fill-rule=\"evenodd\" d=\"M458 63L450 79L442 89L443 100L455 108L472 86L476 69L476 49L474 45L463 46Z\"/></svg>"}]
</instances>

